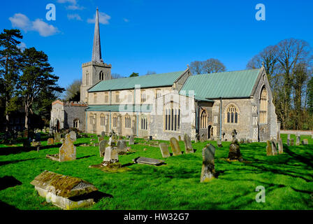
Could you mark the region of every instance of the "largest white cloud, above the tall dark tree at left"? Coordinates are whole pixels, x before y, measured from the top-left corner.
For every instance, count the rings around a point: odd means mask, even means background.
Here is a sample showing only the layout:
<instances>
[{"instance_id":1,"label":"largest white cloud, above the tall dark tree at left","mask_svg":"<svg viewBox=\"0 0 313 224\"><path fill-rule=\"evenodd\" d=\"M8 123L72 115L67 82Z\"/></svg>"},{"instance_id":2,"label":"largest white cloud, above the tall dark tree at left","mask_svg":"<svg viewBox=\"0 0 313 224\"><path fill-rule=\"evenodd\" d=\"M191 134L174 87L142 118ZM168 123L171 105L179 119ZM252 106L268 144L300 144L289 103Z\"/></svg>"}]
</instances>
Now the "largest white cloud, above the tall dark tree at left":
<instances>
[{"instance_id":1,"label":"largest white cloud, above the tall dark tree at left","mask_svg":"<svg viewBox=\"0 0 313 224\"><path fill-rule=\"evenodd\" d=\"M17 27L24 31L38 31L41 36L52 36L59 32L57 27L48 25L47 22L43 22L41 19L31 21L22 13L15 13L13 17L8 19L11 21L12 27Z\"/></svg>"}]
</instances>

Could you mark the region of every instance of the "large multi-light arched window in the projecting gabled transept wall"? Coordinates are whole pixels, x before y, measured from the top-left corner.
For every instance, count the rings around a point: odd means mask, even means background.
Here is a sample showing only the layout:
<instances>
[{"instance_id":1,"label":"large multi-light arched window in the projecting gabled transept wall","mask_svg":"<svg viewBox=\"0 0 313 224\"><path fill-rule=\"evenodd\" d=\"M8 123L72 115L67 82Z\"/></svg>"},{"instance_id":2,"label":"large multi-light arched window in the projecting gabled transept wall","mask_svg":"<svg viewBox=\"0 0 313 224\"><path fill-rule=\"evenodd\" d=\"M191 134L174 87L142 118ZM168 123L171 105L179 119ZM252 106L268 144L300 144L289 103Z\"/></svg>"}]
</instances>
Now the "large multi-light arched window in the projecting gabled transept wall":
<instances>
[{"instance_id":1,"label":"large multi-light arched window in the projecting gabled transept wall","mask_svg":"<svg viewBox=\"0 0 313 224\"><path fill-rule=\"evenodd\" d=\"M164 130L180 130L180 104L170 102L164 107Z\"/></svg>"}]
</instances>

